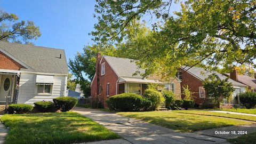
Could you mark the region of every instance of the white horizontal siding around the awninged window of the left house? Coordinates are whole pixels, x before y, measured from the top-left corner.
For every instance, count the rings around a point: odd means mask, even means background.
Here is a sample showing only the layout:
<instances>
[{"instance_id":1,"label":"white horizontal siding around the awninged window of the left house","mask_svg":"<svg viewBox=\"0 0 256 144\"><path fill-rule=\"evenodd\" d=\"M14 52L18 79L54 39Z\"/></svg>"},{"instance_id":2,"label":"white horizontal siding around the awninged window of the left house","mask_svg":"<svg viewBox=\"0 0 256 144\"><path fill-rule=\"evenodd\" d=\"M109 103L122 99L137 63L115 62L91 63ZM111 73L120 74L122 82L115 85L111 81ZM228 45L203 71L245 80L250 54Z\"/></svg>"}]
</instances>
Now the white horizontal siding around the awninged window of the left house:
<instances>
[{"instance_id":1,"label":"white horizontal siding around the awninged window of the left house","mask_svg":"<svg viewBox=\"0 0 256 144\"><path fill-rule=\"evenodd\" d=\"M36 93L36 74L21 73L18 103L33 105L36 101L53 101L57 97L66 95L67 76L54 76L51 95L38 95Z\"/></svg>"}]
</instances>

